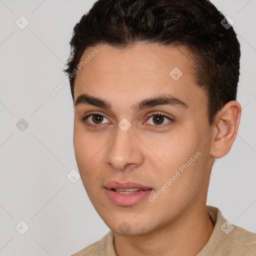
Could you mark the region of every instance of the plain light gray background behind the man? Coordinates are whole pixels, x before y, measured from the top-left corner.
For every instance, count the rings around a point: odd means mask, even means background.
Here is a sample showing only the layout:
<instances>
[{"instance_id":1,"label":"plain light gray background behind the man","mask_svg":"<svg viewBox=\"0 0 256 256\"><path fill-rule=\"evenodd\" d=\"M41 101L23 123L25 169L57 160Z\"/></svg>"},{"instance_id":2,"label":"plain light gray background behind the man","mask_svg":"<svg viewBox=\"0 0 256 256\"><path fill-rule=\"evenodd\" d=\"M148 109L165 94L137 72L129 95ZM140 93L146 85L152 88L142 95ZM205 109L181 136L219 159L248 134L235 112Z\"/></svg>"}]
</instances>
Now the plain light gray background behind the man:
<instances>
[{"instance_id":1,"label":"plain light gray background behind the man","mask_svg":"<svg viewBox=\"0 0 256 256\"><path fill-rule=\"evenodd\" d=\"M109 230L81 179L67 178L78 171L69 85L46 98L65 79L72 28L93 2L0 0L0 255L67 256ZM234 20L241 43L242 116L230 152L213 166L207 204L256 232L256 1L212 2Z\"/></svg>"}]
</instances>

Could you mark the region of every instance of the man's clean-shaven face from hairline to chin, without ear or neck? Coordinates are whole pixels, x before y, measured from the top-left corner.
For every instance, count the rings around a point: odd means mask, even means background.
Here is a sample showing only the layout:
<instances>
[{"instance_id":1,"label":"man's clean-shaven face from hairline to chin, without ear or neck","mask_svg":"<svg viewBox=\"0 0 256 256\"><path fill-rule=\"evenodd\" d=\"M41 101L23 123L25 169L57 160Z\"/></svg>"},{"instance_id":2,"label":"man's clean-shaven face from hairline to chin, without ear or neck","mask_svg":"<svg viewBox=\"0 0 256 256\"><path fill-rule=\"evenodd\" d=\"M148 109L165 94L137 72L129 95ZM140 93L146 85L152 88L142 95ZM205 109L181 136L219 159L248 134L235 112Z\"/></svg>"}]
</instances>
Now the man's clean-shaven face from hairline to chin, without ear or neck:
<instances>
[{"instance_id":1,"label":"man's clean-shaven face from hairline to chin, without ear or neck","mask_svg":"<svg viewBox=\"0 0 256 256\"><path fill-rule=\"evenodd\" d=\"M205 207L213 128L185 48L97 45L80 61L87 55L75 77L74 100L87 94L111 108L80 100L74 107L73 144L83 185L100 217L116 233L145 234ZM174 100L137 104L159 96Z\"/></svg>"}]
</instances>

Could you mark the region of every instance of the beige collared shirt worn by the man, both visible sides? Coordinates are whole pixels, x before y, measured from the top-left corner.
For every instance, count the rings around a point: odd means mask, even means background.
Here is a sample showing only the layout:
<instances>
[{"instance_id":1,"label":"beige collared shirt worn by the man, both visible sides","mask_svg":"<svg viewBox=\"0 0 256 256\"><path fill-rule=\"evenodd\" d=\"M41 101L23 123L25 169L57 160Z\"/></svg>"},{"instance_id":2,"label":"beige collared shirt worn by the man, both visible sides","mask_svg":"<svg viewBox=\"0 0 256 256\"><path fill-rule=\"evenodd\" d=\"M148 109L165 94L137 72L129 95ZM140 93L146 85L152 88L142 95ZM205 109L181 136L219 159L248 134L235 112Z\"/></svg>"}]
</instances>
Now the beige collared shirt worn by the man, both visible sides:
<instances>
[{"instance_id":1,"label":"beige collared shirt worn by the man, both visible sides","mask_svg":"<svg viewBox=\"0 0 256 256\"><path fill-rule=\"evenodd\" d=\"M256 233L251 233L229 223L218 208L206 206L214 229L209 240L196 256L255 256ZM113 246L114 234L110 230L99 241L71 256L116 256Z\"/></svg>"}]
</instances>

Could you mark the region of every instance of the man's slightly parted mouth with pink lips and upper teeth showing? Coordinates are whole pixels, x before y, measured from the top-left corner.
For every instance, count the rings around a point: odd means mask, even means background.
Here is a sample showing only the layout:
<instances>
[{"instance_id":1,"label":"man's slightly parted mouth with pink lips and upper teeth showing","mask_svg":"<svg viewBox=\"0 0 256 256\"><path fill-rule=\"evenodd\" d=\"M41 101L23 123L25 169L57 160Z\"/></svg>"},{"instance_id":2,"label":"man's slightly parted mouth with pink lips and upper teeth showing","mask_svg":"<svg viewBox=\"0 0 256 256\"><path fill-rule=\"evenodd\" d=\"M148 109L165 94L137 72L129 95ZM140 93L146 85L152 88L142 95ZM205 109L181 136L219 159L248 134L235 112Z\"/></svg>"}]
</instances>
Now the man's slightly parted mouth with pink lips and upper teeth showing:
<instances>
[{"instance_id":1,"label":"man's slightly parted mouth with pink lips and upper teeth showing","mask_svg":"<svg viewBox=\"0 0 256 256\"><path fill-rule=\"evenodd\" d=\"M105 193L110 201L120 206L131 206L144 200L152 192L152 188L139 183L127 181L110 181L105 186Z\"/></svg>"}]
</instances>

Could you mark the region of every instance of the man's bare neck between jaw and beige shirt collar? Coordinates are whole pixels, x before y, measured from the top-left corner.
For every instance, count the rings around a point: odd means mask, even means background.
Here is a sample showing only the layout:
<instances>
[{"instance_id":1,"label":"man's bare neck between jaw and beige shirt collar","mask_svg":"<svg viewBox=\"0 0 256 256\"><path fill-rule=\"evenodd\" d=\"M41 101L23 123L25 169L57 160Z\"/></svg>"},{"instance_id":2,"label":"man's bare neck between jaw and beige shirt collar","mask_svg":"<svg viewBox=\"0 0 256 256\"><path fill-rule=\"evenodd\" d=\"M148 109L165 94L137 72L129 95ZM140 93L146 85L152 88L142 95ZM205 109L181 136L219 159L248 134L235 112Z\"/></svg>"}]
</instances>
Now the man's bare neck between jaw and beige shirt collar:
<instances>
[{"instance_id":1,"label":"man's bare neck between jaw and beige shirt collar","mask_svg":"<svg viewBox=\"0 0 256 256\"><path fill-rule=\"evenodd\" d=\"M214 224L206 206L198 200L178 219L143 235L114 234L116 256L191 256L196 255L208 241Z\"/></svg>"}]
</instances>

